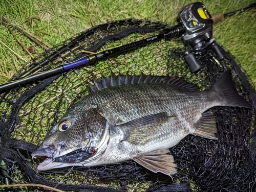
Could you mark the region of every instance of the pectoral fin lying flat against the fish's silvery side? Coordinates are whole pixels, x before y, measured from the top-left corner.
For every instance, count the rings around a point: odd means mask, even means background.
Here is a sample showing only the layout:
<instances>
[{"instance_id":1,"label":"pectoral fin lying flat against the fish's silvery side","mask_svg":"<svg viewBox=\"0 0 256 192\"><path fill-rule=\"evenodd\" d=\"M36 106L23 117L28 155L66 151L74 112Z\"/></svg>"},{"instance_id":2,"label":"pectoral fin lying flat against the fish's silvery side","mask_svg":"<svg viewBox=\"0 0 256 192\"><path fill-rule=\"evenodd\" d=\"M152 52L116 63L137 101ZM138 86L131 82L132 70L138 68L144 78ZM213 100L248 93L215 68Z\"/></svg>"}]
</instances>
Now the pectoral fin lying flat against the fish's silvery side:
<instances>
[{"instance_id":1,"label":"pectoral fin lying flat against the fish's silvery side","mask_svg":"<svg viewBox=\"0 0 256 192\"><path fill-rule=\"evenodd\" d=\"M123 131L121 141L130 142L134 145L144 145L162 134L161 129L169 118L167 113L163 112L147 115L119 125L119 128Z\"/></svg>"}]
</instances>

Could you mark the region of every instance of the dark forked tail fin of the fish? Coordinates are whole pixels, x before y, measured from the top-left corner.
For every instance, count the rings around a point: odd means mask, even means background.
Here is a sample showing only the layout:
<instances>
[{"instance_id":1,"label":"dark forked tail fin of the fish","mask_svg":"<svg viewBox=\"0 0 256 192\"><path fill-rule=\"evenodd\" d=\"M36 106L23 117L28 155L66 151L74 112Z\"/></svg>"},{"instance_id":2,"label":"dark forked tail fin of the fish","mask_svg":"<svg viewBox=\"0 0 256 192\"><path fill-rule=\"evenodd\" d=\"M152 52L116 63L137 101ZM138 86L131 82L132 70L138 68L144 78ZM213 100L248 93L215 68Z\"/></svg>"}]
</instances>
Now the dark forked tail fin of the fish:
<instances>
[{"instance_id":1,"label":"dark forked tail fin of the fish","mask_svg":"<svg viewBox=\"0 0 256 192\"><path fill-rule=\"evenodd\" d=\"M234 87L231 70L226 70L211 89L214 89L220 95L223 106L252 108L251 105L238 94Z\"/></svg>"}]
</instances>

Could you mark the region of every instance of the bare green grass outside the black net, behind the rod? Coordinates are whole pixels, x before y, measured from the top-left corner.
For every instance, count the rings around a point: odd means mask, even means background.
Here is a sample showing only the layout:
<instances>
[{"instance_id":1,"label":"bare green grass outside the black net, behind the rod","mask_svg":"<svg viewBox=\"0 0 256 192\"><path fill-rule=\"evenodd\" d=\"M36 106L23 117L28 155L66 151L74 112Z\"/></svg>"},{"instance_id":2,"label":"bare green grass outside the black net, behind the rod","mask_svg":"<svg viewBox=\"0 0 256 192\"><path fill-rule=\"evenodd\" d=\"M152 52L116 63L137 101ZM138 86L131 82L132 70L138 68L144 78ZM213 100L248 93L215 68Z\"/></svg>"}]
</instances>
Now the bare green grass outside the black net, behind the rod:
<instances>
[{"instance_id":1,"label":"bare green grass outside the black net, behind the rod","mask_svg":"<svg viewBox=\"0 0 256 192\"><path fill-rule=\"evenodd\" d=\"M55 45L92 26L124 18L153 19L174 23L179 10L193 1L60 1L24 0L0 1L0 15L14 20L42 41ZM211 14L226 13L248 6L252 1L216 0L202 1ZM221 45L241 62L254 85L256 84L256 22L255 11L237 14L214 27L214 36ZM175 23L176 24L176 23ZM34 44L22 33L15 35L25 46ZM0 26L0 39L19 56L29 61L16 39ZM36 46L37 53L44 52ZM25 63L0 43L0 83L7 82Z\"/></svg>"}]
</instances>

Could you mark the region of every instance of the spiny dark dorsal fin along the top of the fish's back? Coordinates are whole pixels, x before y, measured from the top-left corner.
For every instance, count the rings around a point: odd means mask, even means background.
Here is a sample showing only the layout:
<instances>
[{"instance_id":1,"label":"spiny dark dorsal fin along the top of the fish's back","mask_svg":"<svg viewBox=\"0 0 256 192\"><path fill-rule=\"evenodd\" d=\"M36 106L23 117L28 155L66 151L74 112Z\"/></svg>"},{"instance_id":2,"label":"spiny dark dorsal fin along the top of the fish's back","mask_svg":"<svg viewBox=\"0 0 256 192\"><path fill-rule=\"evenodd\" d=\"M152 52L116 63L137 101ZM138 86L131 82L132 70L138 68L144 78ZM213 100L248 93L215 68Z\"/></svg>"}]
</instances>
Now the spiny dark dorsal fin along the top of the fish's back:
<instances>
[{"instance_id":1,"label":"spiny dark dorsal fin along the top of the fish's back","mask_svg":"<svg viewBox=\"0 0 256 192\"><path fill-rule=\"evenodd\" d=\"M96 91L108 87L114 87L117 85L129 85L129 84L145 84L145 83L154 83L154 84L169 84L174 85L179 88L186 89L188 91L198 90L198 86L195 84L188 83L178 77L169 77L169 76L152 76L152 75L122 75L118 74L115 76L111 73L110 77L101 76L100 79L93 77L93 85L90 85L91 91Z\"/></svg>"}]
</instances>

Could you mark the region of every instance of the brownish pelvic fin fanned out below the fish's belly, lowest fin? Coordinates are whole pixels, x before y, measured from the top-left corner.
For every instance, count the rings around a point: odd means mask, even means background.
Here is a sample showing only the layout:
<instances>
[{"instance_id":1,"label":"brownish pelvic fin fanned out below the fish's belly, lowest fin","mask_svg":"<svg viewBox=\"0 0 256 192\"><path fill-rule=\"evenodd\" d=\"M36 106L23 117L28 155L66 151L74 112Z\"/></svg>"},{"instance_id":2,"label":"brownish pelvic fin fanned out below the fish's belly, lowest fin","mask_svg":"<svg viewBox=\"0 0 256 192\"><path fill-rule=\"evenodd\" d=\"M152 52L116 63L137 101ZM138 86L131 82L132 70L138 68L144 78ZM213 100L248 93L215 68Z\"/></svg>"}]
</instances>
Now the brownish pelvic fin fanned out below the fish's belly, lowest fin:
<instances>
[{"instance_id":1,"label":"brownish pelvic fin fanned out below the fish's belly, lowest fin","mask_svg":"<svg viewBox=\"0 0 256 192\"><path fill-rule=\"evenodd\" d=\"M169 150L165 149L143 153L134 157L133 160L154 173L161 172L170 176L177 173L177 165L174 164L174 157L166 154L168 152Z\"/></svg>"}]
</instances>

